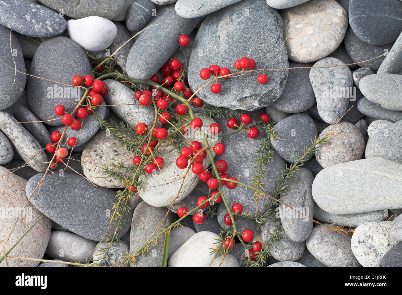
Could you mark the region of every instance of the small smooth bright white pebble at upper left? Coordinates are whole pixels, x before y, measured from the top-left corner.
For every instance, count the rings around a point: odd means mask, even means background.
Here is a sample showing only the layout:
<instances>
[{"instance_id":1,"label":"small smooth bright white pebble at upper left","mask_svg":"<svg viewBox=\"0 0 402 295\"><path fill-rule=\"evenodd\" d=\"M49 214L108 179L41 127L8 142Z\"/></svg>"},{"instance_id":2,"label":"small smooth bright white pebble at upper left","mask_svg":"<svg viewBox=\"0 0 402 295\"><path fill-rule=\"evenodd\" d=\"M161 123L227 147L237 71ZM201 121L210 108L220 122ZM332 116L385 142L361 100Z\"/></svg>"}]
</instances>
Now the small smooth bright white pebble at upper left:
<instances>
[{"instance_id":1,"label":"small smooth bright white pebble at upper left","mask_svg":"<svg viewBox=\"0 0 402 295\"><path fill-rule=\"evenodd\" d=\"M67 31L70 39L76 41L89 52L107 49L117 35L116 25L100 16L87 16L77 20L70 19L67 22Z\"/></svg>"}]
</instances>

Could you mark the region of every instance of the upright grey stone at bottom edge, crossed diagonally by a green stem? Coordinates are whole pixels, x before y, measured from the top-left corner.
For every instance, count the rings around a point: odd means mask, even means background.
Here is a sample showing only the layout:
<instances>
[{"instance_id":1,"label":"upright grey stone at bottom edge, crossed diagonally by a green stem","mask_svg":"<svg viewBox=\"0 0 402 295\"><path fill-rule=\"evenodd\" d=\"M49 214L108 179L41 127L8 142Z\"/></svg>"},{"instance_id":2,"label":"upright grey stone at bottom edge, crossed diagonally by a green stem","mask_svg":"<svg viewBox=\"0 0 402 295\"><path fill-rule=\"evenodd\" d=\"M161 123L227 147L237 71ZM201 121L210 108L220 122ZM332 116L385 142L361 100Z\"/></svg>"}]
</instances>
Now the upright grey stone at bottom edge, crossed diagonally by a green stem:
<instances>
[{"instance_id":1,"label":"upright grey stone at bottom edge, crossed diagonally by a green stem","mask_svg":"<svg viewBox=\"0 0 402 295\"><path fill-rule=\"evenodd\" d=\"M131 222L130 255L133 255L142 248L159 225L160 228L167 228L170 225L169 216L166 216L166 219L162 222L166 212L166 208L152 207L146 202L139 203L134 210L133 220ZM160 224L161 222L162 224ZM152 239L155 237L156 235L152 236ZM141 253L138 253L139 256L135 257L135 264L130 262L131 267L160 267L163 256L164 238L165 235L162 234L156 246L152 246L151 244L146 256L142 256Z\"/></svg>"}]
</instances>

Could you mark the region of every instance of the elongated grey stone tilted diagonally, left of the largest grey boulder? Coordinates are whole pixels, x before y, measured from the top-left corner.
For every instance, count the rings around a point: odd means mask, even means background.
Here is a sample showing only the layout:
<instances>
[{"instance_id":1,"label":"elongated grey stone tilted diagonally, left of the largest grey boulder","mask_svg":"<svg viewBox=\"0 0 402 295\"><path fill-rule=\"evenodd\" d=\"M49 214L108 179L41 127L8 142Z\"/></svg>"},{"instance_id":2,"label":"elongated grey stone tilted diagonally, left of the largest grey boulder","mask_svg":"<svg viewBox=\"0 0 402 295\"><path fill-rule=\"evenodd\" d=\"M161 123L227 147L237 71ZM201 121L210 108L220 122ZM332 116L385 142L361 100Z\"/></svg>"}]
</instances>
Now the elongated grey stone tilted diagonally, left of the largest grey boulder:
<instances>
[{"instance_id":1,"label":"elongated grey stone tilted diagonally, left of the largest grey boulder","mask_svg":"<svg viewBox=\"0 0 402 295\"><path fill-rule=\"evenodd\" d=\"M126 71L133 79L149 79L179 47L178 37L189 35L201 18L182 18L176 14L174 4L160 6L156 16L138 35L127 57ZM182 33L183 29L183 33ZM163 50L156 50L163 44Z\"/></svg>"}]
</instances>

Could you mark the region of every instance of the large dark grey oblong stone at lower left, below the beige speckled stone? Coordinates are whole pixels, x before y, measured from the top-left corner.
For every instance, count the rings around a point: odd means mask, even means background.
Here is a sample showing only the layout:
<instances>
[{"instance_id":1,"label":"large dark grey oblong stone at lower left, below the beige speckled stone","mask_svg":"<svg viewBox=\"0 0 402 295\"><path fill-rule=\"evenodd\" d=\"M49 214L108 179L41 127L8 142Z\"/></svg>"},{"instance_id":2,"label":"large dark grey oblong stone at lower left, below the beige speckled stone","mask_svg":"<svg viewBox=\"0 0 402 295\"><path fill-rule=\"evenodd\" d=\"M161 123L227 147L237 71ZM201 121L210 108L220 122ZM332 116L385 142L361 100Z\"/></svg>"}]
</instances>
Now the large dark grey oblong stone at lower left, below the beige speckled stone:
<instances>
[{"instance_id":1,"label":"large dark grey oblong stone at lower left, below the beige speckled stone","mask_svg":"<svg viewBox=\"0 0 402 295\"><path fill-rule=\"evenodd\" d=\"M47 173L41 189L35 188L44 173L39 173L29 179L26 186L27 196L40 212L61 226L90 240L100 241L109 226L109 216L113 213L113 203L116 203L116 192L113 189L95 187L82 176L64 172ZM57 193L55 193L57 187ZM68 196L68 197L66 197ZM131 224L131 212L126 211L126 222L117 232L122 236ZM93 250L92 250L93 252Z\"/></svg>"}]
</instances>

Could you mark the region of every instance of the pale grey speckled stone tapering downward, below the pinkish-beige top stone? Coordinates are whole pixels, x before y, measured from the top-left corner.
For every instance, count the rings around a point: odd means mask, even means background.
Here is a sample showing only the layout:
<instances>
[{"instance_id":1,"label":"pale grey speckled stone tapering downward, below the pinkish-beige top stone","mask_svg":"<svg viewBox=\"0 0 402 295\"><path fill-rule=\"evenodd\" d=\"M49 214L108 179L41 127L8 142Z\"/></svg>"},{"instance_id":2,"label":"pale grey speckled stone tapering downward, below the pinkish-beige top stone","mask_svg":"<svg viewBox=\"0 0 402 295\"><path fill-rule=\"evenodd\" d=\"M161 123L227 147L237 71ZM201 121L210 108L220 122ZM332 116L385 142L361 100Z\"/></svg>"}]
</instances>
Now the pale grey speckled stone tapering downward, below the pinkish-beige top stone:
<instances>
[{"instance_id":1,"label":"pale grey speckled stone tapering downward, below the pinkish-beige top stone","mask_svg":"<svg viewBox=\"0 0 402 295\"><path fill-rule=\"evenodd\" d=\"M326 57L317 61L310 70L310 82L322 120L335 124L347 111L350 91L353 87L352 73L342 61ZM335 66L332 68L328 68ZM324 67L324 68L317 68Z\"/></svg>"}]
</instances>

